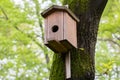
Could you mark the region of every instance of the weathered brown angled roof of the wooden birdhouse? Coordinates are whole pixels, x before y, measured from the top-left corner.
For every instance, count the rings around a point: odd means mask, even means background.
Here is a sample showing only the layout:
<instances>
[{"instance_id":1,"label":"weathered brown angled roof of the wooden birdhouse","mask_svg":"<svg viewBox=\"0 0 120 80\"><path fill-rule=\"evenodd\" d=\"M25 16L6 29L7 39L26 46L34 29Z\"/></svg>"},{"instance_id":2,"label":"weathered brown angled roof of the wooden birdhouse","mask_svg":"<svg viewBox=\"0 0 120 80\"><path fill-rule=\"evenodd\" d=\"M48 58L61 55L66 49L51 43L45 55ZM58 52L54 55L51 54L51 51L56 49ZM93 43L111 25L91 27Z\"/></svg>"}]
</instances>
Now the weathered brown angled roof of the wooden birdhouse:
<instances>
[{"instance_id":1,"label":"weathered brown angled roof of the wooden birdhouse","mask_svg":"<svg viewBox=\"0 0 120 80\"><path fill-rule=\"evenodd\" d=\"M74 15L74 13L68 9L65 6L57 6L57 5L53 5L50 8L46 9L45 11L43 11L41 13L41 15L46 18L47 16L49 16L50 14L52 14L55 11L65 11L67 12L75 21L79 22L79 19Z\"/></svg>"}]
</instances>

